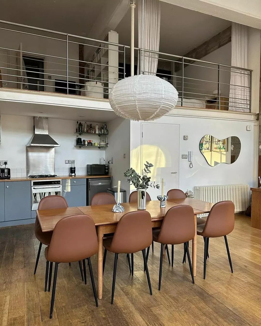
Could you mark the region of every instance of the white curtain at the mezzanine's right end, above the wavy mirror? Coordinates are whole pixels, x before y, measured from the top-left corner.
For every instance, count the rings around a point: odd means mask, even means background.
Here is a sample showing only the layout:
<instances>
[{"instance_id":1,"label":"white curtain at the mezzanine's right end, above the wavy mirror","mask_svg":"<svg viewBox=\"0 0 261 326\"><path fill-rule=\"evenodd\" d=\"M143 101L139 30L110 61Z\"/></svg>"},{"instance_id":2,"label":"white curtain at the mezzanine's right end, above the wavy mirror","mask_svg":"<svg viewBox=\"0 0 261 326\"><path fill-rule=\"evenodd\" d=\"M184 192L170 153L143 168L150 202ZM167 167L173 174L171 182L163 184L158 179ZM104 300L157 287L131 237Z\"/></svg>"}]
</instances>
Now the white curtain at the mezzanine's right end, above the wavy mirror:
<instances>
[{"instance_id":1,"label":"white curtain at the mezzanine's right end, above the wavy mirror","mask_svg":"<svg viewBox=\"0 0 261 326\"><path fill-rule=\"evenodd\" d=\"M231 66L247 68L247 26L232 22ZM231 68L229 110L249 112L249 75ZM246 86L246 87L244 87Z\"/></svg>"}]
</instances>

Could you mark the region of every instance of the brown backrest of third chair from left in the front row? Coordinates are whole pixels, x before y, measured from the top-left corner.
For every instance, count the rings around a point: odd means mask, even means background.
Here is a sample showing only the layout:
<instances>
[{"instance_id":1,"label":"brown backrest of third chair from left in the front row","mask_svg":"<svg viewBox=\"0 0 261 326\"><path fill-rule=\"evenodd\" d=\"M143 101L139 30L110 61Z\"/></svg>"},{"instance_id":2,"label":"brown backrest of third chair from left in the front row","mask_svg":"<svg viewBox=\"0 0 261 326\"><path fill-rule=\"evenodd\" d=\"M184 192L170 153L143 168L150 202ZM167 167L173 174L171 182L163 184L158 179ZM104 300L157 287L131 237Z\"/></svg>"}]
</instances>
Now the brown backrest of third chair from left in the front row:
<instances>
[{"instance_id":1,"label":"brown backrest of third chair from left in the front row","mask_svg":"<svg viewBox=\"0 0 261 326\"><path fill-rule=\"evenodd\" d=\"M164 216L158 242L162 244L182 244L195 236L193 208L189 205L174 206Z\"/></svg>"}]
</instances>

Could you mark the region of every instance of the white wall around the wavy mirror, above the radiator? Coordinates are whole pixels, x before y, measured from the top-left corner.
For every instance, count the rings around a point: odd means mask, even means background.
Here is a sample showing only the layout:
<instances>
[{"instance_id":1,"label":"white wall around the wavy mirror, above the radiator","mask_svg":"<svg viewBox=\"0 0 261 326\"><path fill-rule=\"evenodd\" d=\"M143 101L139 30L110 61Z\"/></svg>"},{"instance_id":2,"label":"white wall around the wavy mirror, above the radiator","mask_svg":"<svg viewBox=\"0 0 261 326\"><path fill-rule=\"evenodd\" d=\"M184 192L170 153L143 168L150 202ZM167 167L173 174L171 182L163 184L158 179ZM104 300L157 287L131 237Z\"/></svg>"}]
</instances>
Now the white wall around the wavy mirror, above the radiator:
<instances>
[{"instance_id":1,"label":"white wall around the wavy mirror, above the radiator","mask_svg":"<svg viewBox=\"0 0 261 326\"><path fill-rule=\"evenodd\" d=\"M179 188L185 191L197 185L228 185L257 184L257 136L258 122L234 121L202 117L165 116L152 123L180 125L179 155ZM131 148L141 145L141 123L131 121ZM252 131L246 131L246 126L252 126ZM155 128L157 132L157 128ZM219 164L211 167L199 151L199 141L206 135L225 139L237 136L241 141L241 152L233 164ZM183 136L188 135L188 141ZM168 141L167 139L164 141ZM171 143L170 143L171 146ZM189 168L187 159L181 159L182 154L193 151L193 165ZM131 163L131 162L130 162ZM153 164L153 162L151 162ZM132 163L131 163L132 164Z\"/></svg>"}]
</instances>

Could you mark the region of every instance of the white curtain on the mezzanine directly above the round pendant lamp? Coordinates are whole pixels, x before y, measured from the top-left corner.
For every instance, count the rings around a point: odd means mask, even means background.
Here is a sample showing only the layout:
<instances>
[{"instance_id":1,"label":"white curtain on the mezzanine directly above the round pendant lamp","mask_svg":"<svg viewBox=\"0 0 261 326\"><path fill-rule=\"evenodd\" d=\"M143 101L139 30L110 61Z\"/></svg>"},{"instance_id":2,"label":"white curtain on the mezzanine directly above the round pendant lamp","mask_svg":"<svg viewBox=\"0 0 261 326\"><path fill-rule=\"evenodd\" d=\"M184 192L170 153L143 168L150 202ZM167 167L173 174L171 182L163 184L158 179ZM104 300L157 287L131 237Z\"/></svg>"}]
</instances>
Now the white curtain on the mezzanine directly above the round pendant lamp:
<instances>
[{"instance_id":1,"label":"white curtain on the mezzanine directly above the round pendant lamp","mask_svg":"<svg viewBox=\"0 0 261 326\"><path fill-rule=\"evenodd\" d=\"M144 32L144 34L143 34ZM144 27L143 27L143 0L138 4L138 47L140 49L158 51L160 32L160 1L144 0ZM158 67L158 54L141 50L141 73L155 75ZM138 60L139 71L139 60Z\"/></svg>"}]
</instances>

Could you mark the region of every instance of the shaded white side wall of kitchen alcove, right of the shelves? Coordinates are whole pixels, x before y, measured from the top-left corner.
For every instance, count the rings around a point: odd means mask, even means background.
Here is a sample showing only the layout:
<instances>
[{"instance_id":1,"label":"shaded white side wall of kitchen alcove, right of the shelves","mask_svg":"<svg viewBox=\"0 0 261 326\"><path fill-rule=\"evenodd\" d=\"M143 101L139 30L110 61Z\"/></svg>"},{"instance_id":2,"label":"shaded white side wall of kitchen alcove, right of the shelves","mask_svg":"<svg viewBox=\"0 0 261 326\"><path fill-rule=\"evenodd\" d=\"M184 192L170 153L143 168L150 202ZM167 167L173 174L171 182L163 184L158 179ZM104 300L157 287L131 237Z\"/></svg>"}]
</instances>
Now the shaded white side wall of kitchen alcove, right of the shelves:
<instances>
[{"instance_id":1,"label":"shaded white side wall of kitchen alcove, right of the shelves","mask_svg":"<svg viewBox=\"0 0 261 326\"><path fill-rule=\"evenodd\" d=\"M126 182L124 172L130 168L130 126L131 121L123 118L116 118L108 123L109 147L105 151L105 162L113 157L113 181L112 186L121 181L121 188L126 190L126 199L130 195L130 184ZM125 158L124 158L125 154ZM110 170L109 170L110 172Z\"/></svg>"}]
</instances>

